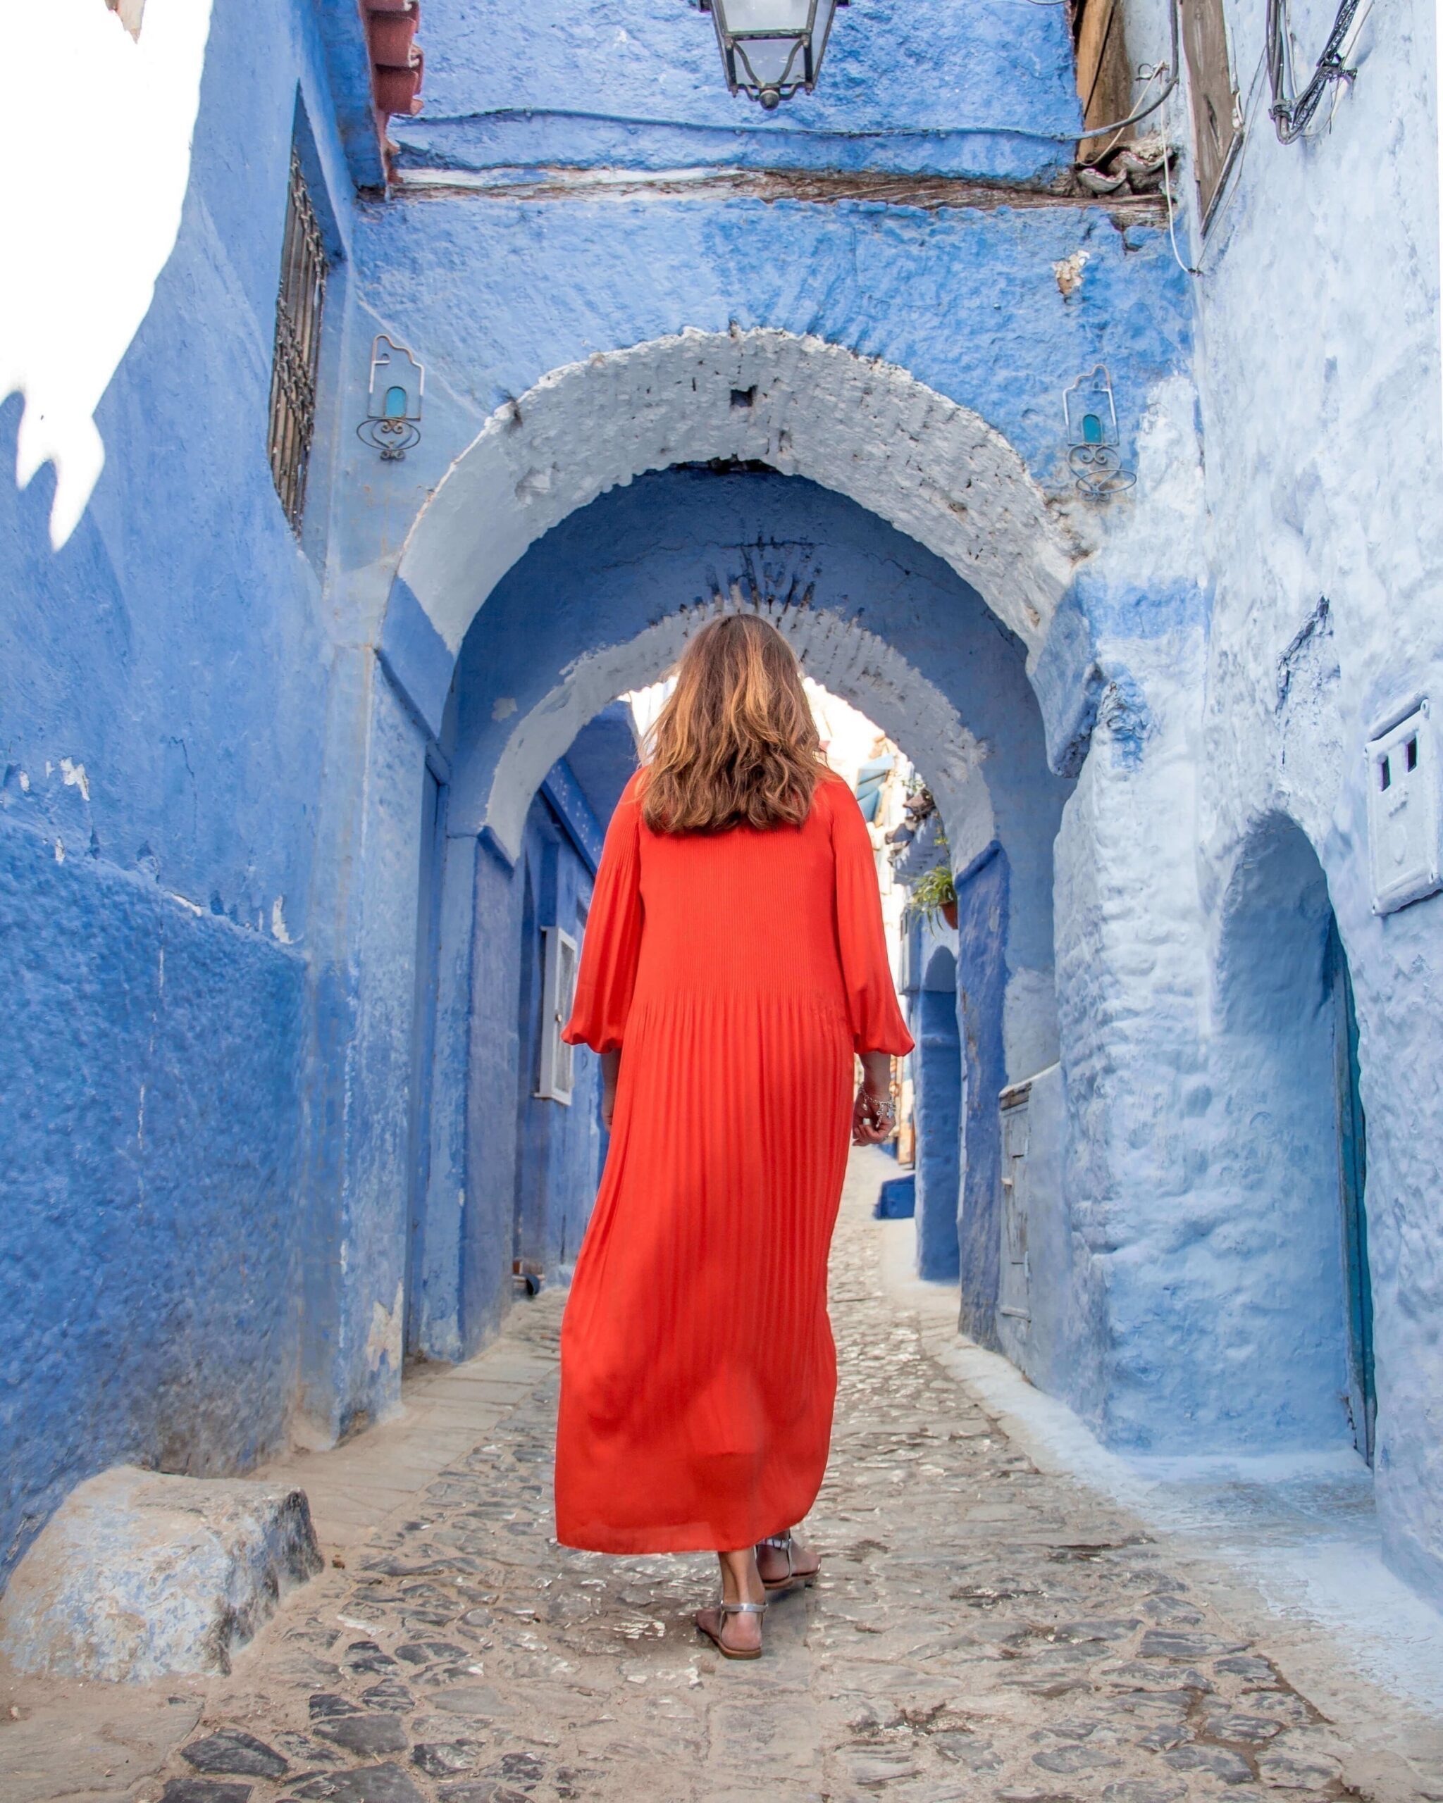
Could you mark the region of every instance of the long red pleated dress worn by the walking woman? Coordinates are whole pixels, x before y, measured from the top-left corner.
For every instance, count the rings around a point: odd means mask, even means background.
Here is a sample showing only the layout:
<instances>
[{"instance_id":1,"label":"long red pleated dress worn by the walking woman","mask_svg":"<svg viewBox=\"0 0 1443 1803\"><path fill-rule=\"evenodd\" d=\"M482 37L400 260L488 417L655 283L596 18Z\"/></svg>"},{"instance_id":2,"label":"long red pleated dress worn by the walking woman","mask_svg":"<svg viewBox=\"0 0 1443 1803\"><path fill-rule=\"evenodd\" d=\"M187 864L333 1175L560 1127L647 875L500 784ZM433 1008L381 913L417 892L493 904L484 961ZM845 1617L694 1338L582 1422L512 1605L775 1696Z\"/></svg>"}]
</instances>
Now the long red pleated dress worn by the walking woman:
<instances>
[{"instance_id":1,"label":"long red pleated dress worn by the walking woman","mask_svg":"<svg viewBox=\"0 0 1443 1803\"><path fill-rule=\"evenodd\" d=\"M639 772L565 1028L620 1048L561 1329L556 1529L597 1552L747 1547L826 1468L826 1258L853 1051L911 1049L871 840L830 772L799 828L649 831Z\"/></svg>"}]
</instances>

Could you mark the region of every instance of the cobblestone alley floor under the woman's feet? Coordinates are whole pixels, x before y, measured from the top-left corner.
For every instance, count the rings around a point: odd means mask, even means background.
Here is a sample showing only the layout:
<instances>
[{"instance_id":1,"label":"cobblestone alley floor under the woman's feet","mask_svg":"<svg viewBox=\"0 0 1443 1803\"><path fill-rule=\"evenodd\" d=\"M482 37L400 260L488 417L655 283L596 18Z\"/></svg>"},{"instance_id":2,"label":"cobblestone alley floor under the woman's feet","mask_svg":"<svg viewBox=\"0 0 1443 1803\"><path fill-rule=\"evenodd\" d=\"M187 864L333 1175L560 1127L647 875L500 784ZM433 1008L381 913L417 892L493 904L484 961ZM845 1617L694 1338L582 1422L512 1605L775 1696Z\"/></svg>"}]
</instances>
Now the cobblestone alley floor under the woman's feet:
<instances>
[{"instance_id":1,"label":"cobblestone alley floor under the woman's feet","mask_svg":"<svg viewBox=\"0 0 1443 1803\"><path fill-rule=\"evenodd\" d=\"M833 1266L842 1381L810 1522L824 1581L770 1610L761 1662L723 1664L691 1626L712 1594L709 1558L608 1560L550 1542L561 1298L543 1296L487 1356L514 1406L343 1570L289 1599L233 1677L184 1711L195 1727L159 1776L110 1794L1443 1796L1416 1762L1407 1781L1376 1762L1355 1769L1347 1736L1203 1601L1163 1542L1039 1473L925 1356L878 1273L873 1194L875 1172L850 1194ZM4 1744L0 1731L0 1760Z\"/></svg>"}]
</instances>

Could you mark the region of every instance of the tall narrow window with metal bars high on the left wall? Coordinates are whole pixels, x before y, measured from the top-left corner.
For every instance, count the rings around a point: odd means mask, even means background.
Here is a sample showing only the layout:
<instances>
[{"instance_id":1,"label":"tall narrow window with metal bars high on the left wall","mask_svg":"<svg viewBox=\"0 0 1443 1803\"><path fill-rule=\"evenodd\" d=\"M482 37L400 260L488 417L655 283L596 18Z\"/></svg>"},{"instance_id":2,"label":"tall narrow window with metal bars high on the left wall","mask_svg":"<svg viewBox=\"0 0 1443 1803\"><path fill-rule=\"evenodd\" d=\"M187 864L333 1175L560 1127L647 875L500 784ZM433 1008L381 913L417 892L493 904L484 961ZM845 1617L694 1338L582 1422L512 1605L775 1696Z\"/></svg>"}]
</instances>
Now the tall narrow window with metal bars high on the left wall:
<instances>
[{"instance_id":1,"label":"tall narrow window with metal bars high on the left wall","mask_svg":"<svg viewBox=\"0 0 1443 1803\"><path fill-rule=\"evenodd\" d=\"M281 288L276 296L276 353L271 366L271 474L285 517L296 530L305 512L305 478L316 433L325 294L326 252L321 227L301 175L301 159L292 150Z\"/></svg>"}]
</instances>

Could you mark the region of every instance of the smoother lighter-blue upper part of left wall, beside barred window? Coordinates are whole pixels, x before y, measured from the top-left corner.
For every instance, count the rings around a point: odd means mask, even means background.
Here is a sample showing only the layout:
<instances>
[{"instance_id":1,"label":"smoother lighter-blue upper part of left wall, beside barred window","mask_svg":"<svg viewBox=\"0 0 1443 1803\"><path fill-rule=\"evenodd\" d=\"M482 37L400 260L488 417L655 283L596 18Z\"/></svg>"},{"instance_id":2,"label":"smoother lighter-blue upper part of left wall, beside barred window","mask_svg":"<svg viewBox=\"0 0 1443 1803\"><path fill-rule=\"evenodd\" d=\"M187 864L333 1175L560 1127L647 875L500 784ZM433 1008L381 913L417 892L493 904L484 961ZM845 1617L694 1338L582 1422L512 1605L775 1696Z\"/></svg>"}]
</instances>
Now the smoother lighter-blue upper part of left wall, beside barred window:
<instances>
[{"instance_id":1,"label":"smoother lighter-blue upper part of left wall, beside barred window","mask_svg":"<svg viewBox=\"0 0 1443 1803\"><path fill-rule=\"evenodd\" d=\"M105 469L87 512L52 552L52 471L0 498L7 795L23 770L27 817L74 835L67 849L94 833L121 867L157 867L207 911L292 934L325 640L271 485L265 411L298 78L316 90L308 38L283 0L213 18L179 236L96 409ZM105 312L105 281L88 292ZM157 444L184 454L157 458ZM56 775L51 795L43 777L61 757L85 768L85 817L78 788Z\"/></svg>"}]
</instances>

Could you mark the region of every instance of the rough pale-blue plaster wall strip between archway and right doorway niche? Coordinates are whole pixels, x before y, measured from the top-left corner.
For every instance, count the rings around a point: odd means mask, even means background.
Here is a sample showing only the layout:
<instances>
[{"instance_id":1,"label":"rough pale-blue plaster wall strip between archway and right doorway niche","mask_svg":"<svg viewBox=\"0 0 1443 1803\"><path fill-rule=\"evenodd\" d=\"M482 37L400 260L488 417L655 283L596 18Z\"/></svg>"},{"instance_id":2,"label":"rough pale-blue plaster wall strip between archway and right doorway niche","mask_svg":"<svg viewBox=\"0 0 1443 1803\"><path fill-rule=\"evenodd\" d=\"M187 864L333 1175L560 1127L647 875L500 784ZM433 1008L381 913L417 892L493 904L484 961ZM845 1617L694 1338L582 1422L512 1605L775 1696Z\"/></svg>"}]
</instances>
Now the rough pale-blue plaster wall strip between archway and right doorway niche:
<instances>
[{"instance_id":1,"label":"rough pale-blue plaster wall strip between archway and right doorway niche","mask_svg":"<svg viewBox=\"0 0 1443 1803\"><path fill-rule=\"evenodd\" d=\"M1196 1450L1218 1433L1210 1320L1174 1307L1169 1258L1203 1228L1210 1102L1196 883L1203 642L1127 647L1057 840L1057 1004L1068 1098L1064 1208L1079 1327L1066 1399L1111 1444Z\"/></svg>"}]
</instances>

